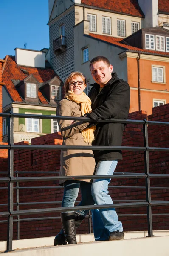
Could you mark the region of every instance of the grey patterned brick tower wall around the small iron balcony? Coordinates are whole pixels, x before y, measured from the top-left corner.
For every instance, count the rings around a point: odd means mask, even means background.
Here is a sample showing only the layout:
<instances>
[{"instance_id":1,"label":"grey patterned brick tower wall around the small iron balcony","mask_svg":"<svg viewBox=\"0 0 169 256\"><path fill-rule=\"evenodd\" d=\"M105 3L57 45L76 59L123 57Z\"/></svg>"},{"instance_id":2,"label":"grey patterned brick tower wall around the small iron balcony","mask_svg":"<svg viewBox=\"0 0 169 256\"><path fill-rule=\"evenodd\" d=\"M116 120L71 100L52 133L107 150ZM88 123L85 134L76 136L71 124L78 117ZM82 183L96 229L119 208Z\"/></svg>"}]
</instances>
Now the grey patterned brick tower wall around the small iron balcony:
<instances>
[{"instance_id":1,"label":"grey patterned brick tower wall around the small iron balcony","mask_svg":"<svg viewBox=\"0 0 169 256\"><path fill-rule=\"evenodd\" d=\"M60 36L59 27L65 24L66 51L60 55L54 54L53 40ZM74 71L74 31L75 12L74 7L59 15L49 24L50 37L50 64L64 81L65 78Z\"/></svg>"}]
</instances>

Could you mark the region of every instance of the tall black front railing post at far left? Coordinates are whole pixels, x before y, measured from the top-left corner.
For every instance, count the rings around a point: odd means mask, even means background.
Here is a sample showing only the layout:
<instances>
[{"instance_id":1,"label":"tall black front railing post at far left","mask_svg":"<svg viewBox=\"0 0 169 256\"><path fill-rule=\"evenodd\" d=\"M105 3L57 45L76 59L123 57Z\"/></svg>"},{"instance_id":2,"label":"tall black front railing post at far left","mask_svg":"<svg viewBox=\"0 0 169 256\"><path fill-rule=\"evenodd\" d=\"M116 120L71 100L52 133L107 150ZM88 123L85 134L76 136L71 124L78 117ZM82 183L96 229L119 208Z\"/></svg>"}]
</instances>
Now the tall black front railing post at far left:
<instances>
[{"instance_id":1,"label":"tall black front railing post at far left","mask_svg":"<svg viewBox=\"0 0 169 256\"><path fill-rule=\"evenodd\" d=\"M14 144L14 117L10 111L11 116L9 117L8 123L8 144L11 146ZM12 251L12 240L13 240L13 215L11 214L14 210L14 183L11 178L14 177L14 150L9 148L8 150L8 177L10 182L8 183L8 227L7 227L7 248L5 252Z\"/></svg>"}]
</instances>

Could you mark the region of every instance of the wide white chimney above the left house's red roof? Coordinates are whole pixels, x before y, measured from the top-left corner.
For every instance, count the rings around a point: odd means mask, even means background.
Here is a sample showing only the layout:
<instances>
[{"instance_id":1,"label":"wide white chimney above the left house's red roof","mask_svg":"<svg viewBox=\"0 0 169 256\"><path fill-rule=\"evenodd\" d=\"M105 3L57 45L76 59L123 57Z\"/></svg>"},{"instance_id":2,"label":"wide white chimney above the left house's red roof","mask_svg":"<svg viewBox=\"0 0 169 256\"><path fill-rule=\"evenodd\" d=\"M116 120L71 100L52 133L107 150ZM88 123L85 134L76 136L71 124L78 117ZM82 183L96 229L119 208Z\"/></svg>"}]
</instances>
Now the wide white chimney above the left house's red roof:
<instances>
[{"instance_id":1,"label":"wide white chimney above the left house's red roof","mask_svg":"<svg viewBox=\"0 0 169 256\"><path fill-rule=\"evenodd\" d=\"M45 52L15 48L17 65L45 68Z\"/></svg>"}]
</instances>

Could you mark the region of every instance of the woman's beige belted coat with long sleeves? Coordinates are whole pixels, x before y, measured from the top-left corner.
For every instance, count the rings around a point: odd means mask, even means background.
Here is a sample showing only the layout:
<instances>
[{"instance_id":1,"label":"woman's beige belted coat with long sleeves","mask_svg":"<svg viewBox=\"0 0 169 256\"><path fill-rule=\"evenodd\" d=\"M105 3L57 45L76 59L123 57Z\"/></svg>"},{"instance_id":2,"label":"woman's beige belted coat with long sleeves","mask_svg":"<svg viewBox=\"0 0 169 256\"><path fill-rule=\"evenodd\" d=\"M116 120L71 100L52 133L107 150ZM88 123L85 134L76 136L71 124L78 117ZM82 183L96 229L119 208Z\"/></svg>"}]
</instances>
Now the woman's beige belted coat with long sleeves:
<instances>
[{"instance_id":1,"label":"woman's beige belted coat with long sleeves","mask_svg":"<svg viewBox=\"0 0 169 256\"><path fill-rule=\"evenodd\" d=\"M72 102L69 99L62 99L56 110L57 116L81 116L80 104ZM83 124L81 121L75 121L71 125L72 120L58 120L59 128L63 136L62 145L91 145L85 143L81 131L84 130L89 123ZM78 125L79 123L79 125ZM76 126L75 126L76 125ZM93 175L95 169L95 160L92 150L62 150L60 157L60 176L73 175ZM60 180L59 184L63 186L65 180ZM82 180L81 180L82 181ZM90 182L91 180L83 180Z\"/></svg>"}]
</instances>

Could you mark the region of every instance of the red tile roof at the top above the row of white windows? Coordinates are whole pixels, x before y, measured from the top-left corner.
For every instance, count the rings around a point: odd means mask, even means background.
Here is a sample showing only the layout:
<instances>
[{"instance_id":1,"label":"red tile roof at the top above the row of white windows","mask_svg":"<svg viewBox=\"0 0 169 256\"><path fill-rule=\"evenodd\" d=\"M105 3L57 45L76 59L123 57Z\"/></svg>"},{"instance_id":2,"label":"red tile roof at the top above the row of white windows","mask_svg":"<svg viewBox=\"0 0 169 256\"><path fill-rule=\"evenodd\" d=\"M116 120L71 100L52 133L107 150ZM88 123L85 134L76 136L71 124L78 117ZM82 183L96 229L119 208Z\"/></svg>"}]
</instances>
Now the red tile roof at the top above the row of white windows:
<instances>
[{"instance_id":1,"label":"red tile roof at the top above the row of white windows","mask_svg":"<svg viewBox=\"0 0 169 256\"><path fill-rule=\"evenodd\" d=\"M137 0L81 0L81 3L113 12L144 17Z\"/></svg>"}]
</instances>

